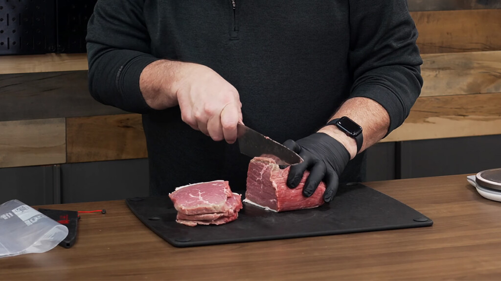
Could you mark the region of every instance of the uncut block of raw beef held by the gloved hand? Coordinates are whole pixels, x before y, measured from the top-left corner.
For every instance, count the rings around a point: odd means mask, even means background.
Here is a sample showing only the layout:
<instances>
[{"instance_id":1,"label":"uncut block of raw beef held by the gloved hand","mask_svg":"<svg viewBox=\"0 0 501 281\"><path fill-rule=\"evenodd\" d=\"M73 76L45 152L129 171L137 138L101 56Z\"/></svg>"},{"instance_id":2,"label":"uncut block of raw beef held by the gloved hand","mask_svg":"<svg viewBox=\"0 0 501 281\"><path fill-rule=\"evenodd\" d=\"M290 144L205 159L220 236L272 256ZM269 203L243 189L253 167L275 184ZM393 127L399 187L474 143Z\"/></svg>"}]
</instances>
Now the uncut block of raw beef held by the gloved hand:
<instances>
[{"instance_id":1,"label":"uncut block of raw beef held by the gloved hand","mask_svg":"<svg viewBox=\"0 0 501 281\"><path fill-rule=\"evenodd\" d=\"M247 190L244 202L275 211L314 208L324 203L325 183L321 182L310 197L303 196L303 186L310 174L306 171L296 188L287 186L290 167L280 169L274 159L255 157L247 171Z\"/></svg>"}]
</instances>

